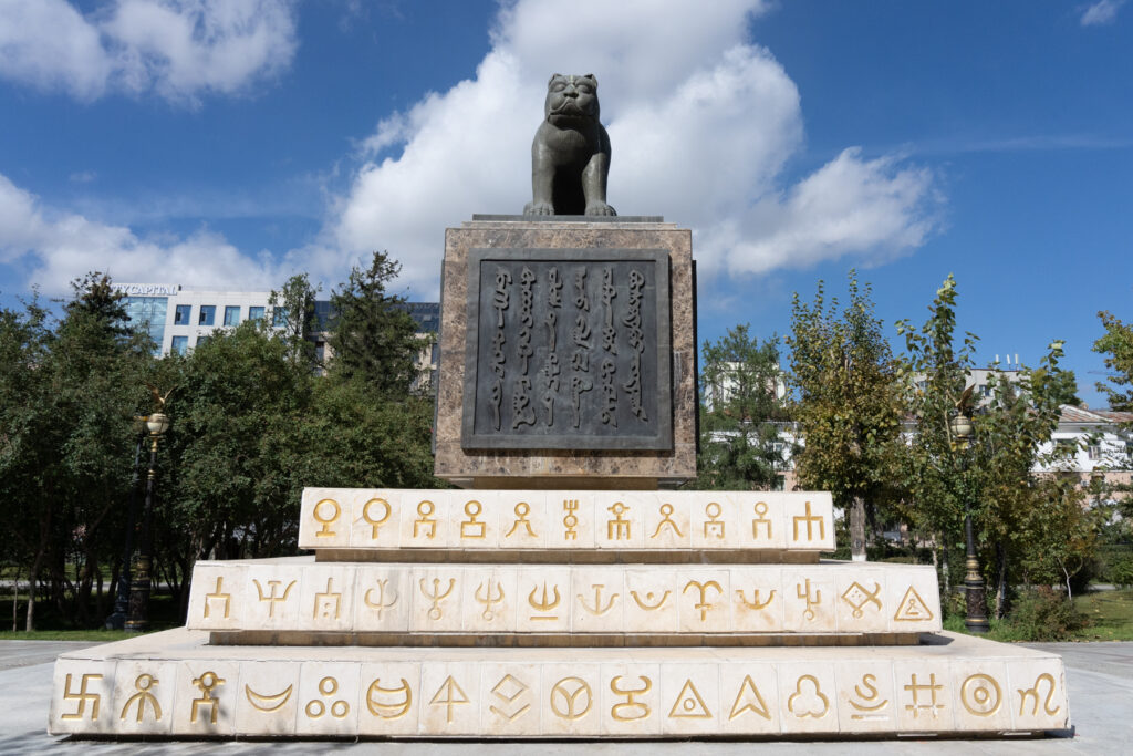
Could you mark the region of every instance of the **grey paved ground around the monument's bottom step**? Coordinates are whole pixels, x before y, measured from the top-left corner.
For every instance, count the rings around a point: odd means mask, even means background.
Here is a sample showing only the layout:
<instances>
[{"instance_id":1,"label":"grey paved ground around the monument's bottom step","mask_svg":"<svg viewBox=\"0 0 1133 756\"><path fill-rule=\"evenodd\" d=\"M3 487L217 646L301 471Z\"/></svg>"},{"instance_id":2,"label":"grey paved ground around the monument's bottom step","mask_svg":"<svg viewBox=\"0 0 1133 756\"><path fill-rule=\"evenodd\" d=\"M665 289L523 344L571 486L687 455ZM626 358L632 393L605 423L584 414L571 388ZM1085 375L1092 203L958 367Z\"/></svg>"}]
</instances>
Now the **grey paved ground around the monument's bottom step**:
<instances>
[{"instance_id":1,"label":"grey paved ground around the monument's bottom step","mask_svg":"<svg viewBox=\"0 0 1133 756\"><path fill-rule=\"evenodd\" d=\"M0 642L0 754L314 754L349 751L400 754L404 742L105 742L69 740L46 734L51 697L51 668L57 654L91 644L35 640ZM1036 644L1034 647L1063 655L1070 687L1073 737L1043 740L884 740L855 742L760 744L760 753L857 754L862 756L983 756L1127 754L1133 755L1133 643ZM429 756L499 756L503 753L533 754L747 754L749 742L586 742L586 744L470 744L418 742L415 754Z\"/></svg>"}]
</instances>

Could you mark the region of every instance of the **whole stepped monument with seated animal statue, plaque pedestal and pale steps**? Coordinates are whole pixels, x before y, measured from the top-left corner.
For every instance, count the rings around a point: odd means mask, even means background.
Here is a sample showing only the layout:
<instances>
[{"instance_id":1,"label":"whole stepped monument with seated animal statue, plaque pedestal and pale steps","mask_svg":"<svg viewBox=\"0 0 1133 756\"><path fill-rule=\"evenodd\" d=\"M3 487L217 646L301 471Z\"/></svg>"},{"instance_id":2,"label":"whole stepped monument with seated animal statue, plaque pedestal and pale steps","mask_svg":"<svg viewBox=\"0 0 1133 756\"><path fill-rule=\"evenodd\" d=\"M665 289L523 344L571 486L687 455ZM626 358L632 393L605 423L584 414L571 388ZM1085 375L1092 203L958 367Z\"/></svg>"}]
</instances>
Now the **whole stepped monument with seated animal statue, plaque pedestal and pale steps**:
<instances>
[{"instance_id":1,"label":"whole stepped monument with seated animal statue, plaque pedestal and pale steps","mask_svg":"<svg viewBox=\"0 0 1133 756\"><path fill-rule=\"evenodd\" d=\"M435 466L461 489L307 489L314 557L197 562L186 628L59 657L49 731L1068 727L1062 660L942 632L932 568L820 560L828 493L666 490L696 474L691 238L606 204L596 91L551 79L523 215L446 233Z\"/></svg>"}]
</instances>

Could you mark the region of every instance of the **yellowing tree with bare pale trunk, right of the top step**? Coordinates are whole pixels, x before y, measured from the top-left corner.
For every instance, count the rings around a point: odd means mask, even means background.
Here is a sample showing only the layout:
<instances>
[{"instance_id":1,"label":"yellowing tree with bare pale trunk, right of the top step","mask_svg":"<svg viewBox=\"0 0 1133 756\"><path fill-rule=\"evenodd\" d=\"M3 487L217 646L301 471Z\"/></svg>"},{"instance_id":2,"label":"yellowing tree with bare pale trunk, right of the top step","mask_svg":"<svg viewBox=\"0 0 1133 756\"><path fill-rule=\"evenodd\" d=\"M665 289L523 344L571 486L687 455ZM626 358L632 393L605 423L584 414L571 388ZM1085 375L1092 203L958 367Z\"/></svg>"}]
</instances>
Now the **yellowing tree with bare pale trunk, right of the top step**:
<instances>
[{"instance_id":1,"label":"yellowing tree with bare pale trunk, right of the top step","mask_svg":"<svg viewBox=\"0 0 1133 756\"><path fill-rule=\"evenodd\" d=\"M823 282L811 305L791 308L792 408L802 448L795 467L803 487L829 491L850 516L851 551L866 558L866 523L879 529L900 500L894 485L903 452L898 363L874 315L869 284L849 274L850 301L828 304Z\"/></svg>"}]
</instances>

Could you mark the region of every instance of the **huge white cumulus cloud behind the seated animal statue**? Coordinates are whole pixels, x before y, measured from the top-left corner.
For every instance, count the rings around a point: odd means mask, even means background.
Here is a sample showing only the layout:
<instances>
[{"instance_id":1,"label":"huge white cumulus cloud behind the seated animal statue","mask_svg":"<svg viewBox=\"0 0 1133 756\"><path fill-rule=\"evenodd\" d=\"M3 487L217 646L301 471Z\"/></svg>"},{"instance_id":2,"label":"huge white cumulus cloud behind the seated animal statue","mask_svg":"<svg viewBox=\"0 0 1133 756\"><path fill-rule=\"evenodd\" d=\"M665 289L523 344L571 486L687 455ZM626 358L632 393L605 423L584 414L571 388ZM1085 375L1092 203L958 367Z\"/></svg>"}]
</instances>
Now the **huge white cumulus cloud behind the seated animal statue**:
<instances>
[{"instance_id":1,"label":"huge white cumulus cloud behind the seated animal statue","mask_svg":"<svg viewBox=\"0 0 1133 756\"><path fill-rule=\"evenodd\" d=\"M841 255L906 254L936 228L927 169L847 148L792 185L803 144L794 83L749 39L759 0L519 0L504 5L474 78L377 125L317 248L340 271L389 249L416 296L434 296L442 229L530 198L527 145L552 73L596 74L622 215L664 214L696 233L700 270L753 274Z\"/></svg>"}]
</instances>

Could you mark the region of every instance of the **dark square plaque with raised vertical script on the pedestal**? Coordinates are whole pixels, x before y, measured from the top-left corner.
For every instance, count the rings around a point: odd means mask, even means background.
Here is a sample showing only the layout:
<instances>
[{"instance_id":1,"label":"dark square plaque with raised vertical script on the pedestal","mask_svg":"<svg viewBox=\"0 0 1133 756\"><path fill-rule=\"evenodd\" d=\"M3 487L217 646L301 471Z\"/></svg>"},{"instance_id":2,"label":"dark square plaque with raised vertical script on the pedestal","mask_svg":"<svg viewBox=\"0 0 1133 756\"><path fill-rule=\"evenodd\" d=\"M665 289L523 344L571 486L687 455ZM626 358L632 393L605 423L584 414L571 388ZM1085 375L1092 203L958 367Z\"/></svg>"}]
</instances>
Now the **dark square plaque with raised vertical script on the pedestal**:
<instances>
[{"instance_id":1,"label":"dark square plaque with raised vertical script on the pedestal","mask_svg":"<svg viewBox=\"0 0 1133 756\"><path fill-rule=\"evenodd\" d=\"M668 253L472 249L461 445L672 449Z\"/></svg>"}]
</instances>

